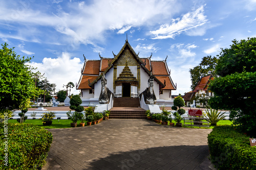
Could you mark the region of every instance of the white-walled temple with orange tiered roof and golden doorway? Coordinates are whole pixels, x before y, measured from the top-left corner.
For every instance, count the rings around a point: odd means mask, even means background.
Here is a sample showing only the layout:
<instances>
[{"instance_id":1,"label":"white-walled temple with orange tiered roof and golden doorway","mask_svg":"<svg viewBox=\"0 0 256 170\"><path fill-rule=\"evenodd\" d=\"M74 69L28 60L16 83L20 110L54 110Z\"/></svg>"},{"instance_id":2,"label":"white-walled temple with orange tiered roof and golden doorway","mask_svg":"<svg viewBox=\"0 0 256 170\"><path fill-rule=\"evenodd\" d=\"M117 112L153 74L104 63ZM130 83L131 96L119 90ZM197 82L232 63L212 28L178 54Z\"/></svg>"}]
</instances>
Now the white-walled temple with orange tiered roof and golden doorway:
<instances>
[{"instance_id":1,"label":"white-walled temple with orange tiered roof and golden doorway","mask_svg":"<svg viewBox=\"0 0 256 170\"><path fill-rule=\"evenodd\" d=\"M113 98L139 98L144 92L146 98L146 90L152 94L154 104L172 106L172 90L176 90L176 85L170 78L167 57L163 61L152 61L151 57L140 58L126 39L113 58L100 55L99 60L84 58L76 85L81 90L82 106L104 103L102 93Z\"/></svg>"}]
</instances>

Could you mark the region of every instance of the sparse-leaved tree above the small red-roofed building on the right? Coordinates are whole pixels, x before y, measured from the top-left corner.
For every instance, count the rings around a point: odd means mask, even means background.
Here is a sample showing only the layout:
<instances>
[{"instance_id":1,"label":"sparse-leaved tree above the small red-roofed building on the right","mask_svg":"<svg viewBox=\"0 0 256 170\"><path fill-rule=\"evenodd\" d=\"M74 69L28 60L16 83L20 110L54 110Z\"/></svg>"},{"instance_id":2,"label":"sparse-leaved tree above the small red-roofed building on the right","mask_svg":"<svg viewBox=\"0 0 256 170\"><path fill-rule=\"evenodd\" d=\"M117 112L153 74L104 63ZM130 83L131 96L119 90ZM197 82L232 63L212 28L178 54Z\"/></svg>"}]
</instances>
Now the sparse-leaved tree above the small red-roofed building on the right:
<instances>
[{"instance_id":1,"label":"sparse-leaved tree above the small red-roofed building on the right","mask_svg":"<svg viewBox=\"0 0 256 170\"><path fill-rule=\"evenodd\" d=\"M200 81L201 77L207 75L216 75L215 74L215 67L217 64L218 59L216 57L206 56L202 58L201 63L194 67L193 69L189 69L190 78L191 78L191 89L194 90Z\"/></svg>"}]
</instances>

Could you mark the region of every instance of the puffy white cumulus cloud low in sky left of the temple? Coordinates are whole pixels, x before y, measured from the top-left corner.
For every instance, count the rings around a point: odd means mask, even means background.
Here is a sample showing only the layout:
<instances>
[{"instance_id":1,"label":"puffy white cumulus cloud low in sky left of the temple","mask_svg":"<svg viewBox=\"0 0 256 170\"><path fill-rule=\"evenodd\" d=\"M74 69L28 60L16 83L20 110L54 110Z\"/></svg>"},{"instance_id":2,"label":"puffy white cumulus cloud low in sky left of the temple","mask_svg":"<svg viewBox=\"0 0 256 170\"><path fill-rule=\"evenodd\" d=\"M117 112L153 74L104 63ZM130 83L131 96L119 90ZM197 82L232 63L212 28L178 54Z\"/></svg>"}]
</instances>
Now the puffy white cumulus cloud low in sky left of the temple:
<instances>
[{"instance_id":1,"label":"puffy white cumulus cloud low in sky left of the temple","mask_svg":"<svg viewBox=\"0 0 256 170\"><path fill-rule=\"evenodd\" d=\"M56 84L56 91L62 90L63 84L68 82L78 83L83 63L79 58L71 58L70 53L62 53L57 58L44 58L42 63L31 62L29 65L37 67L37 70L44 74L44 77L50 83ZM71 89L71 93L78 94L79 91L75 88Z\"/></svg>"}]
</instances>

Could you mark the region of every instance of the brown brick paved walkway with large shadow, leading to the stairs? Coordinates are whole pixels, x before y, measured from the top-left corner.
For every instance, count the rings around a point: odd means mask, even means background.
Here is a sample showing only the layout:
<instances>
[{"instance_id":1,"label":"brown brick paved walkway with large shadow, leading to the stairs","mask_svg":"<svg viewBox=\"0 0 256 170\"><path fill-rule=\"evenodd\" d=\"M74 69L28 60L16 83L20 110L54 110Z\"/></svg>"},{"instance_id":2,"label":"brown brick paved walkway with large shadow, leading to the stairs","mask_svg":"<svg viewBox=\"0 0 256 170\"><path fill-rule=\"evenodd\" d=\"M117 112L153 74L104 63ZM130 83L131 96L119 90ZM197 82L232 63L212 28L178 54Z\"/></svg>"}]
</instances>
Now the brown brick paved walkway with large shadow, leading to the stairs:
<instances>
[{"instance_id":1,"label":"brown brick paved walkway with large shadow, leading to the stairs","mask_svg":"<svg viewBox=\"0 0 256 170\"><path fill-rule=\"evenodd\" d=\"M211 129L158 125L146 119L109 119L98 125L50 129L45 169L209 169Z\"/></svg>"}]
</instances>

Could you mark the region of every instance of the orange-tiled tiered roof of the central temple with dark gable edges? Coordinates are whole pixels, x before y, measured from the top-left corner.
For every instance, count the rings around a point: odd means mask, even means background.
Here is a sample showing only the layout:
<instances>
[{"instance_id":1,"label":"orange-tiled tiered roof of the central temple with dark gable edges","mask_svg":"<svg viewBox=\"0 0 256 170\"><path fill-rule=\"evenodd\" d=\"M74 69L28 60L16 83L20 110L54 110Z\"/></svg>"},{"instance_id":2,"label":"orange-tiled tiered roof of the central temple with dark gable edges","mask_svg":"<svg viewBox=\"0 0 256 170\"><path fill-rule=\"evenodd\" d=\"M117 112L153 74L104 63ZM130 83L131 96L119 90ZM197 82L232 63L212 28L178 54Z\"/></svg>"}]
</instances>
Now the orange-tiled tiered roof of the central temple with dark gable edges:
<instances>
[{"instance_id":1,"label":"orange-tiled tiered roof of the central temple with dark gable edges","mask_svg":"<svg viewBox=\"0 0 256 170\"><path fill-rule=\"evenodd\" d=\"M100 60L86 59L81 70L82 75L76 89L92 89L94 83L100 80L103 72L106 74L106 72L108 72L114 66L115 62L118 61L125 48L129 48L136 61L149 76L150 72L152 71L154 80L159 84L161 89L176 90L176 86L169 76L170 72L168 70L166 60L151 61L151 57L139 58L127 40L125 41L125 44L121 48L120 52L114 58L100 57Z\"/></svg>"}]
</instances>

